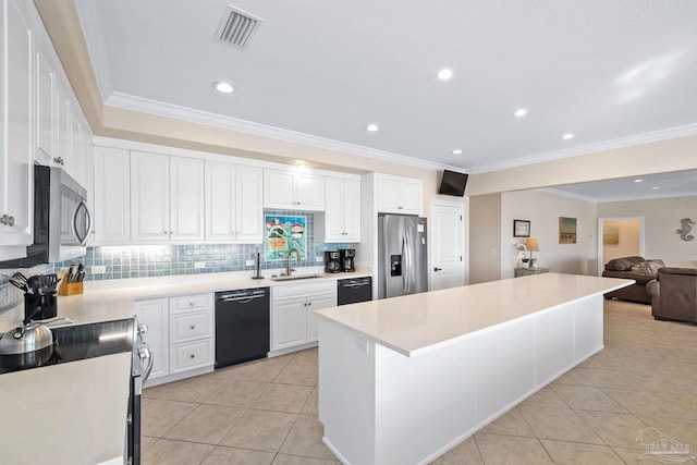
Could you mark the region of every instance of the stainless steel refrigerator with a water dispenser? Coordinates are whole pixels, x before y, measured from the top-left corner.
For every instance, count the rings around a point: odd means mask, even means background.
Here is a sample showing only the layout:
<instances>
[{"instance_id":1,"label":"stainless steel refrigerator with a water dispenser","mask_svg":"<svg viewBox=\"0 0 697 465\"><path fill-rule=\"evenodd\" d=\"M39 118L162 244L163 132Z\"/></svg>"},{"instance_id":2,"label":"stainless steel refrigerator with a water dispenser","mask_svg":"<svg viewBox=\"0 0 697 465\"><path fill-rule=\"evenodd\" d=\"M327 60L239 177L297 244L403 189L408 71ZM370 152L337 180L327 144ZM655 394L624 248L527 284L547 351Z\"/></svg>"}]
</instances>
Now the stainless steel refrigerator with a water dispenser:
<instances>
[{"instance_id":1,"label":"stainless steel refrigerator with a water dispenser","mask_svg":"<svg viewBox=\"0 0 697 465\"><path fill-rule=\"evenodd\" d=\"M378 298L428 291L426 218L378 215Z\"/></svg>"}]
</instances>

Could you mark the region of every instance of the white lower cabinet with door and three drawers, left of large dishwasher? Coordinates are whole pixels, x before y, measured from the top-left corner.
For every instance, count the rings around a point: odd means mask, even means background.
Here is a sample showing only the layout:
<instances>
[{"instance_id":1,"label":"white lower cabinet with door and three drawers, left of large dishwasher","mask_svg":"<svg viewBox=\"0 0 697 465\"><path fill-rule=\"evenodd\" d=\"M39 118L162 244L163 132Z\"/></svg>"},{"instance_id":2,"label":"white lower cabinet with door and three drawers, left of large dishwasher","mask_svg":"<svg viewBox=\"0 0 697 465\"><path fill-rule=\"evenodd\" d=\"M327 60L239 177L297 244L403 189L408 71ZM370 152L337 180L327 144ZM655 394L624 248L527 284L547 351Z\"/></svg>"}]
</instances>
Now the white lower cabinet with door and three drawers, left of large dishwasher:
<instances>
[{"instance_id":1,"label":"white lower cabinet with door and three drawers, left of large dishwasher","mask_svg":"<svg viewBox=\"0 0 697 465\"><path fill-rule=\"evenodd\" d=\"M135 314L154 356L146 387L213 370L212 294L136 301Z\"/></svg>"}]
</instances>

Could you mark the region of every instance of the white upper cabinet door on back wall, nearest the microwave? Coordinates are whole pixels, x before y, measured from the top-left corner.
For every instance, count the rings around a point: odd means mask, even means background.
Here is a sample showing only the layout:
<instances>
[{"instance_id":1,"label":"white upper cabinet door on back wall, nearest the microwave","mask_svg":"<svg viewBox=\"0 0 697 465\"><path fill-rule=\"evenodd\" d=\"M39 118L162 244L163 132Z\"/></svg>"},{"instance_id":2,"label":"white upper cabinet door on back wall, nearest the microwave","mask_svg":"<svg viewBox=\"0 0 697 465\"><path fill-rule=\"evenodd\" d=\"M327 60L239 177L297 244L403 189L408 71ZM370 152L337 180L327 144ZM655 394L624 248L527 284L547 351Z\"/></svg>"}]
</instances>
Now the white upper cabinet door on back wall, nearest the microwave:
<instances>
[{"instance_id":1,"label":"white upper cabinet door on back wall, nearest the microwave","mask_svg":"<svg viewBox=\"0 0 697 465\"><path fill-rule=\"evenodd\" d=\"M131 240L129 150L95 147L95 244L127 244Z\"/></svg>"}]
</instances>

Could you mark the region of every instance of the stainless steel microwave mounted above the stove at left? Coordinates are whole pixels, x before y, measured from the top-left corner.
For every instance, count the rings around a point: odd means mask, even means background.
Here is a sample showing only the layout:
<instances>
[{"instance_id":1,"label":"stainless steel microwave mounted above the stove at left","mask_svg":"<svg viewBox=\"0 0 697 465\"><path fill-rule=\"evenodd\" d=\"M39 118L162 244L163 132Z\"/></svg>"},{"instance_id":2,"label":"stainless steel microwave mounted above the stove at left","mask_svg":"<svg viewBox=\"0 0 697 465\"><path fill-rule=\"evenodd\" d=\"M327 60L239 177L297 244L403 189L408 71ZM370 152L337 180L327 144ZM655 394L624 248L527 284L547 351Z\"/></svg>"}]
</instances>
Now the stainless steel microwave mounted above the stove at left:
<instances>
[{"instance_id":1,"label":"stainless steel microwave mounted above the stove at left","mask_svg":"<svg viewBox=\"0 0 697 465\"><path fill-rule=\"evenodd\" d=\"M91 232L87 191L62 168L34 166L34 244L0 268L27 268L82 257Z\"/></svg>"}]
</instances>

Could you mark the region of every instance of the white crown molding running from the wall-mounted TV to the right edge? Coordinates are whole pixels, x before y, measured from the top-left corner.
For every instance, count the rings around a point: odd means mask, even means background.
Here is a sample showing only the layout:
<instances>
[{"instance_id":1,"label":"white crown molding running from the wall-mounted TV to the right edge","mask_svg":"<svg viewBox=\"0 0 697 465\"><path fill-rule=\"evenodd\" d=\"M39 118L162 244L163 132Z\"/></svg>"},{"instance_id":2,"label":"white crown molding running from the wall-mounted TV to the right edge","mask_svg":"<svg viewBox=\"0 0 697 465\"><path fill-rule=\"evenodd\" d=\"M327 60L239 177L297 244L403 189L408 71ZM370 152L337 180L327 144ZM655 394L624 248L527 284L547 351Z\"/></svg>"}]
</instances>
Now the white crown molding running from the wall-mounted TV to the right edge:
<instances>
[{"instance_id":1,"label":"white crown molding running from the wall-mounted TV to the right edge","mask_svg":"<svg viewBox=\"0 0 697 465\"><path fill-rule=\"evenodd\" d=\"M613 150L617 148L632 147L635 145L649 144L653 142L668 140L671 138L693 136L697 134L697 123L686 124L684 126L671 127L668 130L653 131L645 134L637 134L628 137L606 140L597 144L587 144L578 147L567 148L564 150L549 151L546 154L533 155L529 157L516 158L500 163L491 163L486 166L468 168L470 174L486 173L489 171L499 171L510 168L518 168L526 164L541 163L545 161L560 160L563 158L577 157L580 155L595 154L598 151Z\"/></svg>"}]
</instances>

